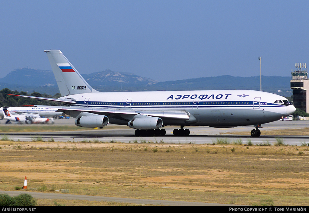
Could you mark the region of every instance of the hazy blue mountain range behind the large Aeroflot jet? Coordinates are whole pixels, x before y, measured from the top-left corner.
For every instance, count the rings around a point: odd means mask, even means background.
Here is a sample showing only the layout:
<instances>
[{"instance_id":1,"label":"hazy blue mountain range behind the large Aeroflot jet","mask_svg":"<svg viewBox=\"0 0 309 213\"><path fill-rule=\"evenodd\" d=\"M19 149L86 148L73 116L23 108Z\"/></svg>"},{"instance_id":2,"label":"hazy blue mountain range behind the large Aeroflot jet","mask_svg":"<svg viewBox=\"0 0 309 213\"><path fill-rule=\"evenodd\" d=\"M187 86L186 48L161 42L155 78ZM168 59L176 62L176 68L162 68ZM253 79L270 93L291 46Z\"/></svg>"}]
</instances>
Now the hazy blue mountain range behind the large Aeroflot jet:
<instances>
[{"instance_id":1,"label":"hazy blue mountain range behind the large Aeroflot jet","mask_svg":"<svg viewBox=\"0 0 309 213\"><path fill-rule=\"evenodd\" d=\"M250 89L260 90L260 76L235 77L216 76L175 81L157 82L128 72L104 70L91 74L82 74L94 89L102 92L111 91L156 91L156 90L214 90L214 89ZM262 90L289 97L291 77L262 76ZM53 72L21 68L11 71L0 79L0 88L32 93L54 95L59 92Z\"/></svg>"}]
</instances>

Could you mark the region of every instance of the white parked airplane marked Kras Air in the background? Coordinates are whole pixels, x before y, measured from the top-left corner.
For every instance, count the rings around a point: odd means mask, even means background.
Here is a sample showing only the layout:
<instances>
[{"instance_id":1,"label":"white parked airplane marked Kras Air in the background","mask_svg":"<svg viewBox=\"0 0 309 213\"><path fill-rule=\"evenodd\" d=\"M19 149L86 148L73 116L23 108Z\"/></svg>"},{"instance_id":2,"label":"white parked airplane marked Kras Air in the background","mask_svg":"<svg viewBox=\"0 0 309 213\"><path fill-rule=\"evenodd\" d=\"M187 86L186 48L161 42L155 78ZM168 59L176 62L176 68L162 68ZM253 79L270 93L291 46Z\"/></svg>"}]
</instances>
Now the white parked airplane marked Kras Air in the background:
<instances>
[{"instance_id":1,"label":"white parked airplane marked Kras Air in the background","mask_svg":"<svg viewBox=\"0 0 309 213\"><path fill-rule=\"evenodd\" d=\"M1 107L3 108L3 107ZM56 109L50 108L50 106L41 105L25 105L23 107L5 107L10 110L11 114L22 115L24 113L37 114L40 117L56 117L62 115L61 112L56 112ZM0 116L3 116L3 111L0 111Z\"/></svg>"}]
</instances>

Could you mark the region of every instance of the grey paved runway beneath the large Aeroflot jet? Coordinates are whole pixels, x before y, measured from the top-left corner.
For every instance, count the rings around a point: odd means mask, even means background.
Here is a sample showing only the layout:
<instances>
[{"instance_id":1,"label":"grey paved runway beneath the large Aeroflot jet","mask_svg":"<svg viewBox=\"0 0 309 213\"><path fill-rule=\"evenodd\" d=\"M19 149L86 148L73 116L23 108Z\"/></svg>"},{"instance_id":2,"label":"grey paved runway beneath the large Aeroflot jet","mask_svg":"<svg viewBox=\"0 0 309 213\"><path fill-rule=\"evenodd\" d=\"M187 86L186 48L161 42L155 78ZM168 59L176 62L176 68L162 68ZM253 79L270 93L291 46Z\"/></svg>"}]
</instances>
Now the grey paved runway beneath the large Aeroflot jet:
<instances>
[{"instance_id":1,"label":"grey paved runway beneath the large Aeroflot jet","mask_svg":"<svg viewBox=\"0 0 309 213\"><path fill-rule=\"evenodd\" d=\"M2 122L3 123L3 122ZM5 125L5 124L1 124ZM9 124L7 124L9 125ZM26 124L25 124L26 125ZM31 124L35 125L35 124ZM41 124L46 125L46 124ZM74 119L61 119L55 120L54 125L74 125ZM176 127L167 126L165 136L156 137L136 137L134 135L135 129L109 124L104 129L93 129L80 128L81 131L70 131L70 132L32 132L32 133L5 133L10 140L13 141L33 141L34 137L40 136L43 141L49 141L51 138L54 141L102 141L102 142L122 142L122 143L142 143L142 142L153 142L153 143L195 143L195 144L212 144L217 141L218 138L227 138L226 140L233 142L241 140L243 144L248 141L253 144L264 144L277 143L277 138L286 145L300 146L306 141L309 141L309 136L269 136L263 135L263 131L266 130L278 130L284 129L286 131L292 131L292 129L308 128L309 121L275 121L269 124L263 124L261 128L260 137L251 137L250 131L253 126L235 127L235 128L212 128L207 126L189 126L186 128L190 129L189 136L174 136L172 131ZM233 132L247 133L242 135L231 134ZM292 133L291 133L292 134Z\"/></svg>"}]
</instances>

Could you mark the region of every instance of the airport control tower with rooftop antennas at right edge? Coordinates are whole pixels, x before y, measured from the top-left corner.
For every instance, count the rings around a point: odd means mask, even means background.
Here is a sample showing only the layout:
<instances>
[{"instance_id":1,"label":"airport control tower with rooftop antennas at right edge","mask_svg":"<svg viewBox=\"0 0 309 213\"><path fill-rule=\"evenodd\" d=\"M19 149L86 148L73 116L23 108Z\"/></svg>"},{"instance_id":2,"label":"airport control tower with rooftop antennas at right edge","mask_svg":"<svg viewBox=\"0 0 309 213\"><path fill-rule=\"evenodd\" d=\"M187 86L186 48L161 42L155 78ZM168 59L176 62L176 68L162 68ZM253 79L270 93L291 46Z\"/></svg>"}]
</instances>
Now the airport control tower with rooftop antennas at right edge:
<instances>
[{"instance_id":1,"label":"airport control tower with rooftop antennas at right edge","mask_svg":"<svg viewBox=\"0 0 309 213\"><path fill-rule=\"evenodd\" d=\"M291 89L293 89L293 104L296 108L309 113L309 80L305 63L295 63L297 70L292 70ZM308 92L307 92L308 91ZM308 104L307 104L308 100Z\"/></svg>"}]
</instances>

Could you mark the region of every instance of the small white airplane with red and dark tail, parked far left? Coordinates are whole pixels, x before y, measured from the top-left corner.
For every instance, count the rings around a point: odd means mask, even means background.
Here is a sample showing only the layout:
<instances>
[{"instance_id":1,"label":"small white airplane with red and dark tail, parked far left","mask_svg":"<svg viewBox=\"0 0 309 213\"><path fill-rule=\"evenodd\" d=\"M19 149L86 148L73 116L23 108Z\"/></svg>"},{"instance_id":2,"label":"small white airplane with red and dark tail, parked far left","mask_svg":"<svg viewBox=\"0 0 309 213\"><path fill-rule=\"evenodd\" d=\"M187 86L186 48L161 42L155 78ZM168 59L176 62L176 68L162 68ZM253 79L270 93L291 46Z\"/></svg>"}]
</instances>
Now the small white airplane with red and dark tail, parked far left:
<instances>
[{"instance_id":1,"label":"small white airplane with red and dark tail, parked far left","mask_svg":"<svg viewBox=\"0 0 309 213\"><path fill-rule=\"evenodd\" d=\"M22 115L11 115L8 108L3 108L3 116L7 119L6 124L14 121L18 124L53 124L53 118L41 118L37 114L23 113Z\"/></svg>"}]
</instances>

